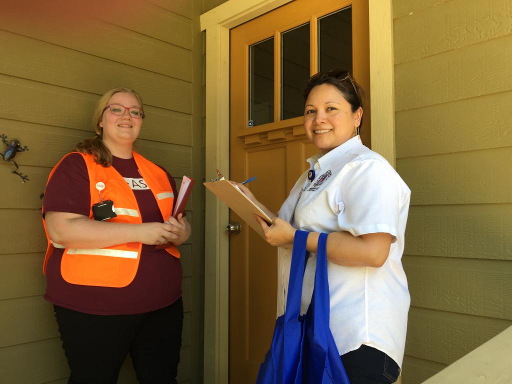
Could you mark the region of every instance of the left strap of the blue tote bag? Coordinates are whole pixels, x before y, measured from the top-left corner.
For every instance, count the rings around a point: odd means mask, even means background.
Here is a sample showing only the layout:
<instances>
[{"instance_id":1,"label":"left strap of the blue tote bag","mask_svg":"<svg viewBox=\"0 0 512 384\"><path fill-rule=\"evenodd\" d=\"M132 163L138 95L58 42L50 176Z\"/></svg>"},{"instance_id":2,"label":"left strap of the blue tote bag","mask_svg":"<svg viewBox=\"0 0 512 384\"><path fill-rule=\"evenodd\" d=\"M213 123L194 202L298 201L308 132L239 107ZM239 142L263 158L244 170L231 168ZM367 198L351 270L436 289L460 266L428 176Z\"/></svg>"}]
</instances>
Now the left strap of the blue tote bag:
<instances>
[{"instance_id":1,"label":"left strap of the blue tote bag","mask_svg":"<svg viewBox=\"0 0 512 384\"><path fill-rule=\"evenodd\" d=\"M302 283L309 252L306 243L309 232L296 230L291 255L290 279L286 295L285 323L296 322L301 314Z\"/></svg>"}]
</instances>

